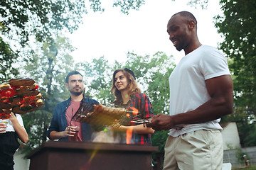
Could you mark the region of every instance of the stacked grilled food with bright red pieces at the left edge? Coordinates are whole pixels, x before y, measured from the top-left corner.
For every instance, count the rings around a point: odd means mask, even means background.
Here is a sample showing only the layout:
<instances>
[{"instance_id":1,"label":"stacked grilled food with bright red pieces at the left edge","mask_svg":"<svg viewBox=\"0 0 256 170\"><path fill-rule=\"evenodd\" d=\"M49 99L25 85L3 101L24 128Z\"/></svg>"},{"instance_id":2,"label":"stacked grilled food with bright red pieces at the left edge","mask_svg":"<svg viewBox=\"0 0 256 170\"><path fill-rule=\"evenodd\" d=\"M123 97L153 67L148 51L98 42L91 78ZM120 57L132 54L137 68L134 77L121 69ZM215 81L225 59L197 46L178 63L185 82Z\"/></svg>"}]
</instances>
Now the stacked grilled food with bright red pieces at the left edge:
<instances>
[{"instance_id":1,"label":"stacked grilled food with bright red pieces at the left edge","mask_svg":"<svg viewBox=\"0 0 256 170\"><path fill-rule=\"evenodd\" d=\"M0 85L0 118L11 111L25 114L43 106L43 97L33 79L11 79Z\"/></svg>"}]
</instances>

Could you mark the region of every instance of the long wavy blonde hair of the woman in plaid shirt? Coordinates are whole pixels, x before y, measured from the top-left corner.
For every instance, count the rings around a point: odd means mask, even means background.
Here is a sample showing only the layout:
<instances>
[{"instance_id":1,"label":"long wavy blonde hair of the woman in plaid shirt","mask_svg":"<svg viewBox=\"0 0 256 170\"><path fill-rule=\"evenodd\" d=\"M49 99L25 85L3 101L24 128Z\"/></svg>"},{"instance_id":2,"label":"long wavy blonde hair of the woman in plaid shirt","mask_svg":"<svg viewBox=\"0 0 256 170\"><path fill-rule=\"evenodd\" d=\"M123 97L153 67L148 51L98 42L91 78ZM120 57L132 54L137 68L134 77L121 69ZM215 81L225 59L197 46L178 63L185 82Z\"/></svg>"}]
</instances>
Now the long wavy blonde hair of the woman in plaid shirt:
<instances>
[{"instance_id":1,"label":"long wavy blonde hair of the woman in plaid shirt","mask_svg":"<svg viewBox=\"0 0 256 170\"><path fill-rule=\"evenodd\" d=\"M127 85L127 89L128 89L128 95L131 96L133 94L139 94L141 93L141 89L139 89L138 85L137 85L137 81L134 79L134 77L132 76L132 74L129 74L129 72L125 71L124 69L116 69L113 73L113 77L112 77L112 89L111 89L111 93L116 97L117 101L122 101L122 95L121 92L119 90L117 90L117 87L114 85L115 80L114 77L118 72L123 72L124 76L127 78L128 85Z\"/></svg>"}]
</instances>

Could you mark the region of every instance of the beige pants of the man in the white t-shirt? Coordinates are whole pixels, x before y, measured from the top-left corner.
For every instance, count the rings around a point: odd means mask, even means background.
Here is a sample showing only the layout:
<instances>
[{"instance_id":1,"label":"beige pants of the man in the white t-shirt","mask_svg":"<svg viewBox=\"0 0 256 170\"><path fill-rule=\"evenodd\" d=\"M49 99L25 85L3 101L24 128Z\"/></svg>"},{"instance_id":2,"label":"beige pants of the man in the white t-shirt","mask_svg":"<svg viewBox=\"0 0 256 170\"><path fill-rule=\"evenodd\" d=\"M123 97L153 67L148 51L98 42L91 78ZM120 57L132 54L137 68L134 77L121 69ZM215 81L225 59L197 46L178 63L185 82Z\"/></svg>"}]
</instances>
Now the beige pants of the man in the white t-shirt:
<instances>
[{"instance_id":1,"label":"beige pants of the man in the white t-shirt","mask_svg":"<svg viewBox=\"0 0 256 170\"><path fill-rule=\"evenodd\" d=\"M166 140L164 170L216 170L222 165L220 130L197 130Z\"/></svg>"}]
</instances>

